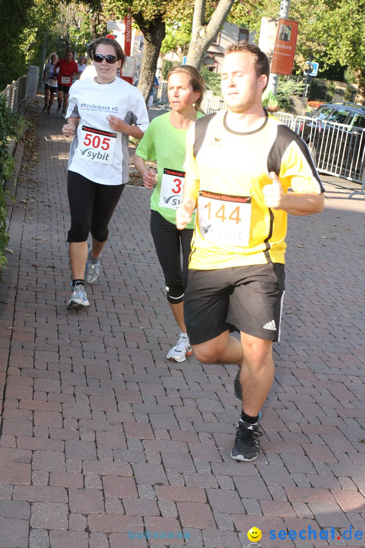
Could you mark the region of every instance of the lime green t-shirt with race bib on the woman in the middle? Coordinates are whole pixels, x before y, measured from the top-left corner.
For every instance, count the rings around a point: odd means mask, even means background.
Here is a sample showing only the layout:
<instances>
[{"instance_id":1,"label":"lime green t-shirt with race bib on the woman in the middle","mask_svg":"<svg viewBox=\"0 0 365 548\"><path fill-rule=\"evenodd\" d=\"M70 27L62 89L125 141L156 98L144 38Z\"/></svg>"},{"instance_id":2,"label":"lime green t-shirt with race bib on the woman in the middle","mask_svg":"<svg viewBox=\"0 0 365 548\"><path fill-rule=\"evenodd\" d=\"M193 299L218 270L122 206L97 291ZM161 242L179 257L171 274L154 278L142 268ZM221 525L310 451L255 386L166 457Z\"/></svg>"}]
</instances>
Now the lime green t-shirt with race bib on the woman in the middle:
<instances>
[{"instance_id":1,"label":"lime green t-shirt with race bib on the woman in the middle","mask_svg":"<svg viewBox=\"0 0 365 548\"><path fill-rule=\"evenodd\" d=\"M145 162L148 159L151 162L157 161L158 181L151 196L151 209L176 225L176 208L182 198L181 179L184 177L188 130L174 128L170 123L170 114L166 112L152 120L137 146L136 155ZM197 112L197 118L202 116L203 113ZM194 228L194 221L195 214L187 229Z\"/></svg>"}]
</instances>

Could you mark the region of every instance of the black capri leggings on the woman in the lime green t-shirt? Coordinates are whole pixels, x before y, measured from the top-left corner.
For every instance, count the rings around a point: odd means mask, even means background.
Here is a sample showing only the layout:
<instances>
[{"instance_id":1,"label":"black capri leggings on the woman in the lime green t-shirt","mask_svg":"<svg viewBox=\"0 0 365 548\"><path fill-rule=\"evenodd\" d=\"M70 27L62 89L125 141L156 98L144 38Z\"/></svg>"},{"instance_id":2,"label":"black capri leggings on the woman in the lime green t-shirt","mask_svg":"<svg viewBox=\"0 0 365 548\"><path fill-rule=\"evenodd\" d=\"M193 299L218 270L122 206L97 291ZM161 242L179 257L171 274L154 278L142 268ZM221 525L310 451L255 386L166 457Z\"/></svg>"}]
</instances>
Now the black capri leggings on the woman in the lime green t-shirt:
<instances>
[{"instance_id":1,"label":"black capri leggings on the woman in the lime green t-shirt","mask_svg":"<svg viewBox=\"0 0 365 548\"><path fill-rule=\"evenodd\" d=\"M176 225L166 221L154 210L151 210L150 226L158 260L165 276L167 300L172 304L178 304L183 300L188 283L188 262L193 229L178 230Z\"/></svg>"}]
</instances>

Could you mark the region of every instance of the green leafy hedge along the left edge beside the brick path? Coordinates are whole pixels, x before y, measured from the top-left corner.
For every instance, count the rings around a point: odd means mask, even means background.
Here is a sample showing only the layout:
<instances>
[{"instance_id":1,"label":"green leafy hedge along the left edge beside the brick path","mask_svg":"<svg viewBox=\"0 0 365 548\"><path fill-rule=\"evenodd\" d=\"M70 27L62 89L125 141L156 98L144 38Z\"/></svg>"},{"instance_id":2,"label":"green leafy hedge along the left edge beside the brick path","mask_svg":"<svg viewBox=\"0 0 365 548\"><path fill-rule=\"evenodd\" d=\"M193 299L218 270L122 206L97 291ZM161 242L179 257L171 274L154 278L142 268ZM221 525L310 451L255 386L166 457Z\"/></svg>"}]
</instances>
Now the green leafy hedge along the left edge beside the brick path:
<instances>
[{"instance_id":1,"label":"green leafy hedge along the left edge beside the brick path","mask_svg":"<svg viewBox=\"0 0 365 548\"><path fill-rule=\"evenodd\" d=\"M7 258L4 255L9 241L7 228L7 197L9 191L4 190L4 182L9 179L14 169L13 157L9 155L8 139L17 139L22 134L24 121L13 114L7 107L7 100L0 95L0 272L6 266ZM3 281L0 274L0 281Z\"/></svg>"}]
</instances>

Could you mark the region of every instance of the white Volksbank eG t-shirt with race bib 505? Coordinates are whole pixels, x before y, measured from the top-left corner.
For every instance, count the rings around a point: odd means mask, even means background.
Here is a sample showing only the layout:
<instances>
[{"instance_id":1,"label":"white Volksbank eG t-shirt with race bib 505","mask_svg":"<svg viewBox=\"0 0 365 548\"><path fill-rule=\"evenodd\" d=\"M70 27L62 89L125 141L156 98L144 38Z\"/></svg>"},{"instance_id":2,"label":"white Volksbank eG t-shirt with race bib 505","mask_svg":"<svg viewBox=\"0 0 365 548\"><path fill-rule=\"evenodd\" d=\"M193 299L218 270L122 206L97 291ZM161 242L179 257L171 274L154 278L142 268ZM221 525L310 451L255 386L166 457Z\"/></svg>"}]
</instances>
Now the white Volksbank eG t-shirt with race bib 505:
<instances>
[{"instance_id":1,"label":"white Volksbank eG t-shirt with race bib 505","mask_svg":"<svg viewBox=\"0 0 365 548\"><path fill-rule=\"evenodd\" d=\"M121 78L110 84L97 84L92 78L72 84L66 118L80 118L80 122L68 169L101 185L120 185L129 181L129 136L113 132L108 115L138 125L143 133L148 127L140 90Z\"/></svg>"}]
</instances>

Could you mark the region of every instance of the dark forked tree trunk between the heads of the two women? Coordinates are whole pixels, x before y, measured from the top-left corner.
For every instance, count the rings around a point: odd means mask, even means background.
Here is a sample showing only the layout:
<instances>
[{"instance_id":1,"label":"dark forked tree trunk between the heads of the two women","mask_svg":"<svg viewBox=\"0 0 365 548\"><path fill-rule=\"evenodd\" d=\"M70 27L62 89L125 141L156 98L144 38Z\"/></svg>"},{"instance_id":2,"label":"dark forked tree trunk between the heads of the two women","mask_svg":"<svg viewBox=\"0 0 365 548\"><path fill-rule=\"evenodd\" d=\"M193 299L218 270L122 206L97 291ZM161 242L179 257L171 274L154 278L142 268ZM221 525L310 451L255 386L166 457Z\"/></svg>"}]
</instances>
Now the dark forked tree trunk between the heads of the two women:
<instances>
[{"instance_id":1,"label":"dark forked tree trunk between the heads of the two women","mask_svg":"<svg viewBox=\"0 0 365 548\"><path fill-rule=\"evenodd\" d=\"M144 36L144 45L141 60L141 73L138 80L138 89L144 100L148 101L150 91L157 70L157 61L161 44L166 35L164 15L157 15L153 21L145 21L141 12L132 14Z\"/></svg>"}]
</instances>

